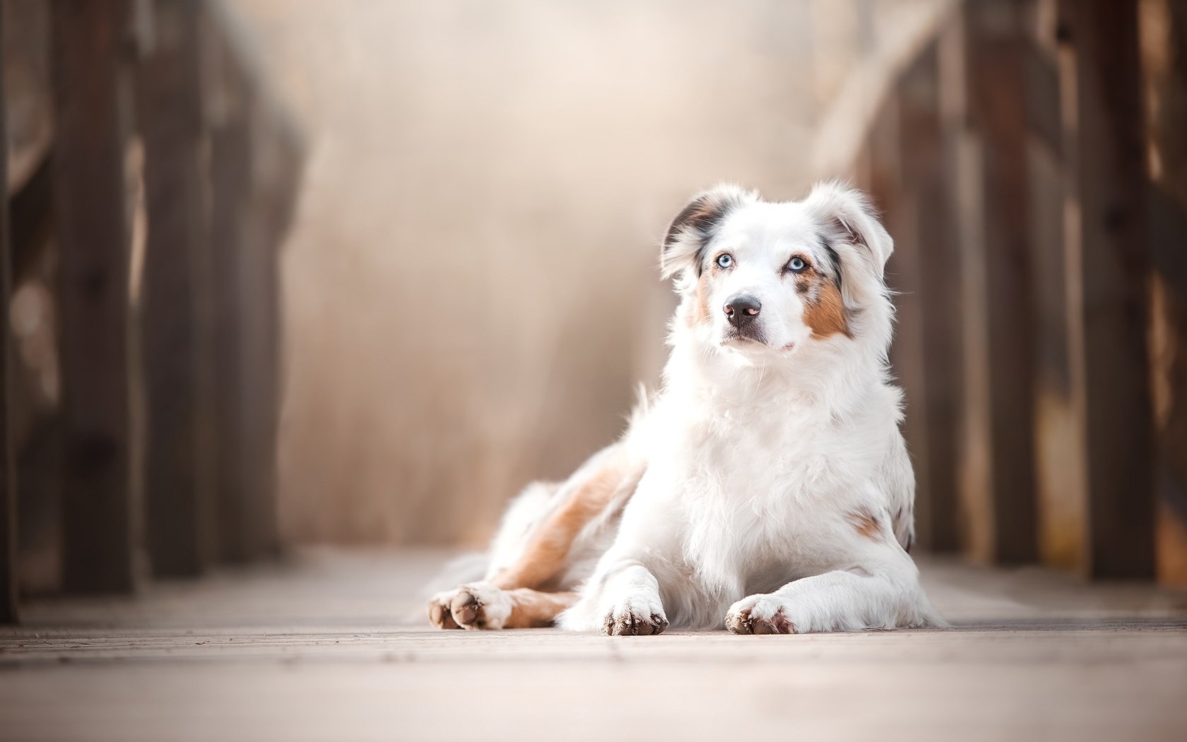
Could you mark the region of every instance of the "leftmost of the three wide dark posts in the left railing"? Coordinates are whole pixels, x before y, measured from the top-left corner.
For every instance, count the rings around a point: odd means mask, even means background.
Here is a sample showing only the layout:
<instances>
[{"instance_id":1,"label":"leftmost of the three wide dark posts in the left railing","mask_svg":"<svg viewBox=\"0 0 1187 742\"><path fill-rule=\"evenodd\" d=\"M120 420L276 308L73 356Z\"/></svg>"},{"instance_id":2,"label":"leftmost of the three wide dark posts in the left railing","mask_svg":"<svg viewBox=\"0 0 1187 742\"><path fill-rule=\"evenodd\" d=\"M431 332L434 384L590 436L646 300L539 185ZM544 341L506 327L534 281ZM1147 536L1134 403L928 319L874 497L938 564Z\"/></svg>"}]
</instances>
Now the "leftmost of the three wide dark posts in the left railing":
<instances>
[{"instance_id":1,"label":"leftmost of the three wide dark posts in the left railing","mask_svg":"<svg viewBox=\"0 0 1187 742\"><path fill-rule=\"evenodd\" d=\"M63 588L137 584L127 0L55 0L56 218L64 481Z\"/></svg>"}]
</instances>

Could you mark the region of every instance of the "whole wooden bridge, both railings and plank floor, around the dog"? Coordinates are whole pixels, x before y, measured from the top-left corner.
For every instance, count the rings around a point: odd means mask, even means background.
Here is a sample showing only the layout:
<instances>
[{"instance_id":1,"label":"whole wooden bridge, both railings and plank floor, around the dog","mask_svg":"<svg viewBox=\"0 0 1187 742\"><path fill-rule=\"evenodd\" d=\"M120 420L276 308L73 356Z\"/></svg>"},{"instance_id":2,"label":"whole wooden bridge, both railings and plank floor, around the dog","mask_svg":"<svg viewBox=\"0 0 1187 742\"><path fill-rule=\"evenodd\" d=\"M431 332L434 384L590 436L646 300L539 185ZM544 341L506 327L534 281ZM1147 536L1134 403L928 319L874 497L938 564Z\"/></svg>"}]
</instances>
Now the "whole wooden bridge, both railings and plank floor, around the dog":
<instances>
[{"instance_id":1,"label":"whole wooden bridge, both railings and plank floor, around the dog","mask_svg":"<svg viewBox=\"0 0 1187 742\"><path fill-rule=\"evenodd\" d=\"M0 738L1183 738L1187 4L836 4L903 24L815 175L896 240L953 630L434 632L449 552L274 559L301 138L220 2L4 0Z\"/></svg>"}]
</instances>

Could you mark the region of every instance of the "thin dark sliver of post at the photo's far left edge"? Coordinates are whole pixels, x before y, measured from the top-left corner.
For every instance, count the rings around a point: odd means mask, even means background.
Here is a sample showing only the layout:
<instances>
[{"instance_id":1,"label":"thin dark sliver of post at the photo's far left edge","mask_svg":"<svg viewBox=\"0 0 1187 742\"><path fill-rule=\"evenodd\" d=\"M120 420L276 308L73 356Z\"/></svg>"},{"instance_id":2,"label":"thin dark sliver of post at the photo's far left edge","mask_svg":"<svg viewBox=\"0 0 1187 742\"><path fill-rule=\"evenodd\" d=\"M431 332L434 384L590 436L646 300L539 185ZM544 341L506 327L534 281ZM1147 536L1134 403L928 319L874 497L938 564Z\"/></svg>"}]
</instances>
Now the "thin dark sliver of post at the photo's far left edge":
<instances>
[{"instance_id":1,"label":"thin dark sliver of post at the photo's far left edge","mask_svg":"<svg viewBox=\"0 0 1187 742\"><path fill-rule=\"evenodd\" d=\"M0 38L4 38L0 13ZM2 46L0 46L2 52ZM2 56L2 55L0 55ZM0 142L7 141L5 87L0 80ZM0 183L8 182L8 148L0 147ZM6 191L7 194L7 191ZM8 321L12 260L8 250L8 198L0 198L0 623L17 613L17 471L12 439L12 323Z\"/></svg>"}]
</instances>

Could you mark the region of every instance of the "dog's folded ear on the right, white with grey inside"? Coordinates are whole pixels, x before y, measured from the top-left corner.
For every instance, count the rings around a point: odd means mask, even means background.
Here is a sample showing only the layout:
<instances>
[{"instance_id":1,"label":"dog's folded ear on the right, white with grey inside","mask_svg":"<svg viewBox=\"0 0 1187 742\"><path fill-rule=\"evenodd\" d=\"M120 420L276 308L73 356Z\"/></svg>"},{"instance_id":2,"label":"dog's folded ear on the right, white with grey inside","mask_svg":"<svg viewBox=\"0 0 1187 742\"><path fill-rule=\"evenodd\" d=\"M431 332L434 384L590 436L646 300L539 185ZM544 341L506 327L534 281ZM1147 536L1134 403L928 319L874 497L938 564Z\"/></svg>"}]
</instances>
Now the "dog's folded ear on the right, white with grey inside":
<instances>
[{"instance_id":1,"label":"dog's folded ear on the right, white with grey inside","mask_svg":"<svg viewBox=\"0 0 1187 742\"><path fill-rule=\"evenodd\" d=\"M818 183L804 205L814 215L824 239L842 255L842 266L861 271L868 279L882 284L887 260L894 252L894 240L869 197L862 191L834 180ZM849 283L849 281L846 281Z\"/></svg>"}]
</instances>

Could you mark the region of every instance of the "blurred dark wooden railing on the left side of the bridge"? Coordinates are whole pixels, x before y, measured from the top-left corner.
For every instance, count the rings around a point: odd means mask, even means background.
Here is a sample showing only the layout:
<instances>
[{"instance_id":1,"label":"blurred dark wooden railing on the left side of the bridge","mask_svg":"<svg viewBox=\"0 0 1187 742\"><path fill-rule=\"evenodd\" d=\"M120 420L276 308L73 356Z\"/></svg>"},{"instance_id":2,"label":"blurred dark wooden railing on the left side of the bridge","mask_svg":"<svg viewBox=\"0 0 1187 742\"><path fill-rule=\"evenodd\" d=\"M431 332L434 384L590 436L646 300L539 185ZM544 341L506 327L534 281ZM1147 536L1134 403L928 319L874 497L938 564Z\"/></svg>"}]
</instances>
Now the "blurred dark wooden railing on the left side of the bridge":
<instances>
[{"instance_id":1,"label":"blurred dark wooden railing on the left side of the bridge","mask_svg":"<svg viewBox=\"0 0 1187 742\"><path fill-rule=\"evenodd\" d=\"M2 24L12 621L18 497L32 531L52 520L71 592L275 552L278 247L301 156L217 2L4 0Z\"/></svg>"}]
</instances>

